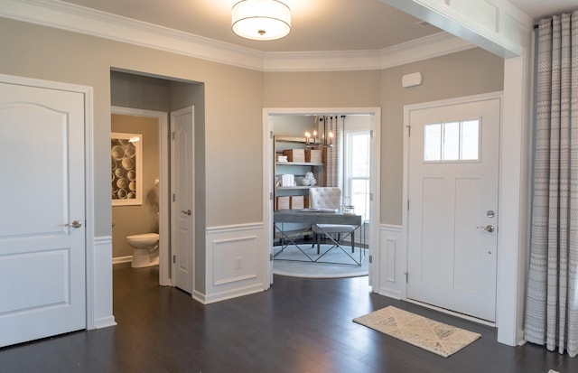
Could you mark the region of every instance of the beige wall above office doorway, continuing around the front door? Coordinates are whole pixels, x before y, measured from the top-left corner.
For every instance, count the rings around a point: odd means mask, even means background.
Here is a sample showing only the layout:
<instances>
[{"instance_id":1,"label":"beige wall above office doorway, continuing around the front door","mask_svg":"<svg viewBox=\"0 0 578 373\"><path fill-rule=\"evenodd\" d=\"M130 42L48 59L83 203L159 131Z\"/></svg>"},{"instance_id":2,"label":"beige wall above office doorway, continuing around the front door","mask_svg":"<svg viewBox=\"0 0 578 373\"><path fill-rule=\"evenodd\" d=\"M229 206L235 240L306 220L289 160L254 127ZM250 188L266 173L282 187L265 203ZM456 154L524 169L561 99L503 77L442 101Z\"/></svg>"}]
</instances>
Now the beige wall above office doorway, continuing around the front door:
<instances>
[{"instance_id":1,"label":"beige wall above office doorway, continuing around the front door","mask_svg":"<svg viewBox=\"0 0 578 373\"><path fill-rule=\"evenodd\" d=\"M269 72L264 106L381 107L380 223L401 225L404 105L502 90L503 69L501 58L471 49L381 71ZM413 72L423 84L402 88Z\"/></svg>"}]
</instances>

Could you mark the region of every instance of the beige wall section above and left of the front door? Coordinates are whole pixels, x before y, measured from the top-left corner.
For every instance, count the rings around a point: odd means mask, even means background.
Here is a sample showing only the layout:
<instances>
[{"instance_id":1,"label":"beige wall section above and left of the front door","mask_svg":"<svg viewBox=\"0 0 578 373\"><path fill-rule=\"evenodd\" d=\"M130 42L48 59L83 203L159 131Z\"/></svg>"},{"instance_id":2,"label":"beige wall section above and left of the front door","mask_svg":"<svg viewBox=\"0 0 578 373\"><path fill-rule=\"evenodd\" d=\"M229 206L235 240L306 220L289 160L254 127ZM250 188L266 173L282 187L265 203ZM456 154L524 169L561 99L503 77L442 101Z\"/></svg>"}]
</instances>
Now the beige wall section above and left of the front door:
<instances>
[{"instance_id":1,"label":"beige wall section above and left of the front door","mask_svg":"<svg viewBox=\"0 0 578 373\"><path fill-rule=\"evenodd\" d=\"M402 88L402 77L418 71L423 84ZM401 225L404 105L500 91L504 61L488 51L471 49L383 70L381 85L381 222Z\"/></svg>"}]
</instances>

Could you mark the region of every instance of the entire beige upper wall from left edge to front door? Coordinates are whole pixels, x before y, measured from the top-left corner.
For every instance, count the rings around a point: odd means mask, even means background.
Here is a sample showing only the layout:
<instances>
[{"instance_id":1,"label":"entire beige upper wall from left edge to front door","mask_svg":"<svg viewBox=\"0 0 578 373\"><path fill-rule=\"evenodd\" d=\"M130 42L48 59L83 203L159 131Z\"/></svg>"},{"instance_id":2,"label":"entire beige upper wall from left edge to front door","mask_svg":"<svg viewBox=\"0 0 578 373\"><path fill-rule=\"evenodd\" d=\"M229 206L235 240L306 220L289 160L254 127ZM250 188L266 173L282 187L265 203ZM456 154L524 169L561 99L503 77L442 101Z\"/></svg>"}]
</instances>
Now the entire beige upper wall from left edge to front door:
<instances>
[{"instance_id":1,"label":"entire beige upper wall from left edge to front door","mask_svg":"<svg viewBox=\"0 0 578 373\"><path fill-rule=\"evenodd\" d=\"M202 83L190 92L198 131L195 213L201 220L195 263L200 292L204 228L263 221L263 107L382 107L381 223L401 224L403 105L503 85L503 61L480 49L387 70L261 72L5 18L0 18L0 45L0 73L93 88L97 237L110 236L112 229L110 71ZM401 77L415 71L424 74L424 85L402 89ZM137 92L126 94L139 98ZM166 110L172 102L163 101Z\"/></svg>"}]
</instances>

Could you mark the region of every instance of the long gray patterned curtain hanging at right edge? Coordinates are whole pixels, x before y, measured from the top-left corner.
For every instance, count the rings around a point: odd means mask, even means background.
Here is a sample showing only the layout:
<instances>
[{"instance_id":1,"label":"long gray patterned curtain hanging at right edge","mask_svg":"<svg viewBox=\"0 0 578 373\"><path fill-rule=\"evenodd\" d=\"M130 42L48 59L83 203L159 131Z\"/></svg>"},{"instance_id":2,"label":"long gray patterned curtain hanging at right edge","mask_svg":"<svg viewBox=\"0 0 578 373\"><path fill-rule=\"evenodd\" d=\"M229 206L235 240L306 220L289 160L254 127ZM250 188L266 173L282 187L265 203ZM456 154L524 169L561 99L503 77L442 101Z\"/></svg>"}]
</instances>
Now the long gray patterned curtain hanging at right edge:
<instances>
[{"instance_id":1,"label":"long gray patterned curtain hanging at right edge","mask_svg":"<svg viewBox=\"0 0 578 373\"><path fill-rule=\"evenodd\" d=\"M578 11L536 31L526 339L578 354Z\"/></svg>"}]
</instances>

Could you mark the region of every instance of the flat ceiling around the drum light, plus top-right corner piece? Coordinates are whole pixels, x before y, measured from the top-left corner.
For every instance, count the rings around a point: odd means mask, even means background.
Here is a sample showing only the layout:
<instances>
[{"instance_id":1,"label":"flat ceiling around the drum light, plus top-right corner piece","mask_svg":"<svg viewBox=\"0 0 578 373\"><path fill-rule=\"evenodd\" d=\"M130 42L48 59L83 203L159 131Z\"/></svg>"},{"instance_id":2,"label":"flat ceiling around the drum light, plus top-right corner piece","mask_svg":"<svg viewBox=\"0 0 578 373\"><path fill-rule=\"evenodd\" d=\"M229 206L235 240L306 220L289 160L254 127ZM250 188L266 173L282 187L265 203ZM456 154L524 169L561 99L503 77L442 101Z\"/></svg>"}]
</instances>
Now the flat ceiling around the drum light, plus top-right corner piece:
<instances>
[{"instance_id":1,"label":"flat ceiling around the drum light, plus top-right corner piece","mask_svg":"<svg viewBox=\"0 0 578 373\"><path fill-rule=\"evenodd\" d=\"M231 31L230 10L238 0L66 0L262 52L376 51L440 30L380 0L284 0L292 30L283 39L256 42ZM510 0L532 18L576 8L576 0Z\"/></svg>"}]
</instances>

